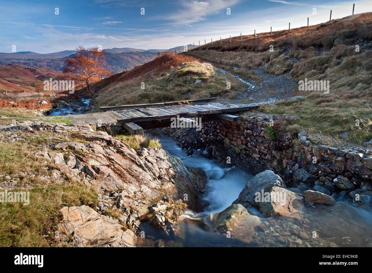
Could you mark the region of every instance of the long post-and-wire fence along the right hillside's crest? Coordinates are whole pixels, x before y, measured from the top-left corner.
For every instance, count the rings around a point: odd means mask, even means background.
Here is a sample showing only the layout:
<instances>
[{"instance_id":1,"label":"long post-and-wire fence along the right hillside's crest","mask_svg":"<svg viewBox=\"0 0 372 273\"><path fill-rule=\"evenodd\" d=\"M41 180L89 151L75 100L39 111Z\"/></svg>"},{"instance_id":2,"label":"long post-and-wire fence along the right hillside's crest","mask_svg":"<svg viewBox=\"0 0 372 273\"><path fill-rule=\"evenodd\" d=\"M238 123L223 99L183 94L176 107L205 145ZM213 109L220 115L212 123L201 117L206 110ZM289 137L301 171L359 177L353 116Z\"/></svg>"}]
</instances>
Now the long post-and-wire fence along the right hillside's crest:
<instances>
[{"instance_id":1,"label":"long post-and-wire fence along the right hillside's crest","mask_svg":"<svg viewBox=\"0 0 372 273\"><path fill-rule=\"evenodd\" d=\"M187 46L179 47L176 49L176 51L181 53L189 49L198 48L199 46L203 46L203 45L210 45L210 44L215 44L215 43L222 44L222 42L226 43L226 41L222 41L226 39L228 43L231 43L231 42L236 41L237 36L239 40L243 41L243 36L247 36L247 35L252 35L253 37L259 37L260 33L270 32L270 34L272 35L273 32L282 31L282 30L288 30L290 32L291 29L319 25L322 23L330 22L331 20L334 20L334 19L340 19L346 16L361 14L361 13L366 13L366 12L372 12L372 0L361 2L361 3L356 3L356 4L351 4L345 7L340 7L338 9L330 10L329 12L314 14L313 16L307 17L305 19L297 20L294 22L288 22L288 23L278 25L278 26L270 26L270 27L265 27L262 29L252 29L248 32L240 33L239 35L240 37L238 35L235 35L235 37L233 37L234 39L232 39L232 36L230 36L224 39L220 37L219 40L215 40L215 41L213 41L213 39L199 40L198 42L193 42ZM316 10L315 10L315 13L316 13Z\"/></svg>"}]
</instances>

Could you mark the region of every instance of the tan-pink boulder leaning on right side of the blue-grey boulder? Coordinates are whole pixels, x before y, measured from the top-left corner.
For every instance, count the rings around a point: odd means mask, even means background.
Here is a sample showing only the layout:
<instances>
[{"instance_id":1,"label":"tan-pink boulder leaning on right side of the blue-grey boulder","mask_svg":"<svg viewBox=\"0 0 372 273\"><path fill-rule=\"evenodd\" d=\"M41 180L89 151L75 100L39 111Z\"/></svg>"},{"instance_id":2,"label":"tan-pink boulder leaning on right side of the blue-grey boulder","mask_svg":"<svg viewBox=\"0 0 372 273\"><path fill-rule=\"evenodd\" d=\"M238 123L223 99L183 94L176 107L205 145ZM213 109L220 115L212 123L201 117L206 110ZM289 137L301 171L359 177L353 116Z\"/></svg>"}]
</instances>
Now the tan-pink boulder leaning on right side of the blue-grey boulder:
<instances>
[{"instance_id":1,"label":"tan-pink boulder leaning on right side of the blue-grey boulder","mask_svg":"<svg viewBox=\"0 0 372 273\"><path fill-rule=\"evenodd\" d=\"M304 202L304 197L301 194L275 186L269 193L270 200L260 203L261 213L265 213L267 216L299 216Z\"/></svg>"}]
</instances>

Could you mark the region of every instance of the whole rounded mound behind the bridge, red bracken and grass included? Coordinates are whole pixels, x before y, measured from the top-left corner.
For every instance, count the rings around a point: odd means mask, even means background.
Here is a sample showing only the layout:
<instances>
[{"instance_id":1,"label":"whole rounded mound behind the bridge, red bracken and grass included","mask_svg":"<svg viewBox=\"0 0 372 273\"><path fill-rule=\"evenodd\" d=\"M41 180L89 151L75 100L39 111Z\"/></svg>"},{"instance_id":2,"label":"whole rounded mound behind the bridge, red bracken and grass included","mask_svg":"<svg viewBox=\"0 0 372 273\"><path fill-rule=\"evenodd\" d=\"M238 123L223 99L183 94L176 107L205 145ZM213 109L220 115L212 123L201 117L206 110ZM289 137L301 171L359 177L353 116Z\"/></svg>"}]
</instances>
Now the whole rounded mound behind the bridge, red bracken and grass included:
<instances>
[{"instance_id":1,"label":"whole rounded mound behind the bridge, red bracken and grass included","mask_svg":"<svg viewBox=\"0 0 372 273\"><path fill-rule=\"evenodd\" d=\"M155 103L229 94L241 86L240 81L209 63L169 53L102 81L96 86L95 99L97 106Z\"/></svg>"}]
</instances>

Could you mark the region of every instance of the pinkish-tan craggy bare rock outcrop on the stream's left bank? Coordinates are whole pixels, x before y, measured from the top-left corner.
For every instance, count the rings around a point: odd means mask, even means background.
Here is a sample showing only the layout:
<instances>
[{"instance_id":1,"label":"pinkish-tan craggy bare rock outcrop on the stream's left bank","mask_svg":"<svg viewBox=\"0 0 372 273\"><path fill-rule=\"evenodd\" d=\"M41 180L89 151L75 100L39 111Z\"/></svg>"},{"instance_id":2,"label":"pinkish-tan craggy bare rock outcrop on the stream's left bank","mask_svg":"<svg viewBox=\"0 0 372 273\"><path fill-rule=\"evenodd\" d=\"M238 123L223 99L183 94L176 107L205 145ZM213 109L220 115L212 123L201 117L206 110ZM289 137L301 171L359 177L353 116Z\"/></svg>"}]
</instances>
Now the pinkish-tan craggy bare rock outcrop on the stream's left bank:
<instances>
[{"instance_id":1,"label":"pinkish-tan craggy bare rock outcrop on the stream's left bank","mask_svg":"<svg viewBox=\"0 0 372 273\"><path fill-rule=\"evenodd\" d=\"M199 190L203 188L203 173L193 170L190 175L182 161L165 150L154 147L135 151L120 139L94 131L86 124L26 121L0 126L0 130L4 134L17 132L16 141L53 134L47 149L43 146L42 151L33 154L50 162L57 171L53 179L45 177L46 183L74 180L100 191L96 208L62 209L63 221L58 230L73 237L74 243L67 240L70 246L134 245L132 235L140 232L141 219L154 204L154 213L158 205L162 208L158 200L164 196L172 201L166 211L159 209L155 214L163 212L167 216L165 222L171 222L183 211L180 201L173 200L183 200L184 207L193 211L202 210ZM106 238L105 230L112 236Z\"/></svg>"}]
</instances>

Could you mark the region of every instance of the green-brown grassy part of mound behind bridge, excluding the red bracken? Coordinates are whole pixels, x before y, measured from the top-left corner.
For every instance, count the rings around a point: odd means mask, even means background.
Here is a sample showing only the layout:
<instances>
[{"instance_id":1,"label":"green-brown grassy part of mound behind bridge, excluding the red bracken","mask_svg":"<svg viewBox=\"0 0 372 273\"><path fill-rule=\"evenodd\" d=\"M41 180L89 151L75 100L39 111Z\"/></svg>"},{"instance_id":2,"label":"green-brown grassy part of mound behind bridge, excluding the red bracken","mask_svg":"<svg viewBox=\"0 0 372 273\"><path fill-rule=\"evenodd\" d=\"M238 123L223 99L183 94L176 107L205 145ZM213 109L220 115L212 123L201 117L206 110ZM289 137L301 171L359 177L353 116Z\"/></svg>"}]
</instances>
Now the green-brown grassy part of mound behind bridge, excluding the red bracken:
<instances>
[{"instance_id":1,"label":"green-brown grassy part of mound behind bridge, excluding the red bracken","mask_svg":"<svg viewBox=\"0 0 372 273\"><path fill-rule=\"evenodd\" d=\"M195 83L195 80L202 80ZM97 106L155 103L184 99L200 99L227 93L242 86L236 78L219 73L211 64L188 62L158 76L142 76L125 81L114 81L97 93ZM141 89L144 83L145 89Z\"/></svg>"}]
</instances>

